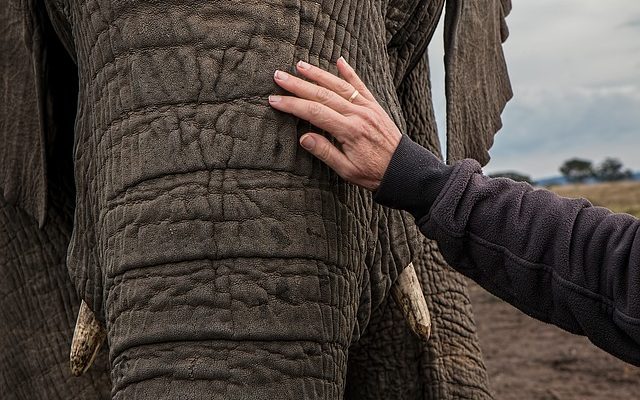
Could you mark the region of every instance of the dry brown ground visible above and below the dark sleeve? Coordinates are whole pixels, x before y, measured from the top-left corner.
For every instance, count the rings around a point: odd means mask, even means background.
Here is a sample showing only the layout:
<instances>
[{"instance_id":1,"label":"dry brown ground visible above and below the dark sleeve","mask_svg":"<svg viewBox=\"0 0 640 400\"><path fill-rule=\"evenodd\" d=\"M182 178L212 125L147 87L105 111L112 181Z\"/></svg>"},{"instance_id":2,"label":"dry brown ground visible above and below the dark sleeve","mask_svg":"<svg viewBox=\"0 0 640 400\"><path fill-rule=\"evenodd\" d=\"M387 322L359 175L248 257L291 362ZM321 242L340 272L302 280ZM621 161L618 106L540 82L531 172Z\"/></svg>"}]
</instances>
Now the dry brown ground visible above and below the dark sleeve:
<instances>
[{"instance_id":1,"label":"dry brown ground visible above and below the dark sleeve","mask_svg":"<svg viewBox=\"0 0 640 400\"><path fill-rule=\"evenodd\" d=\"M640 182L552 188L640 217ZM496 400L640 398L640 368L586 338L534 320L470 284L480 344Z\"/></svg>"}]
</instances>

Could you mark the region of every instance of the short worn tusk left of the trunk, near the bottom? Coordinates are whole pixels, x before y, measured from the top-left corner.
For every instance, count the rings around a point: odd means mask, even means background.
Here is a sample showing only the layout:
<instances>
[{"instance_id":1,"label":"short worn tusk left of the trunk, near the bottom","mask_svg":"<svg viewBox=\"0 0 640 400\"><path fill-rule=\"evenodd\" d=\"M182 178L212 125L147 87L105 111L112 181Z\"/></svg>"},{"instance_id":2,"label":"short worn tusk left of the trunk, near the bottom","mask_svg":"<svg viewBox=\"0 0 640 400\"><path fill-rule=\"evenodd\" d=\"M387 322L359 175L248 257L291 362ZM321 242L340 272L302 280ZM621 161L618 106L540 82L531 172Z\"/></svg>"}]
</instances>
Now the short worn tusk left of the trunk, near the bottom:
<instances>
[{"instance_id":1,"label":"short worn tusk left of the trunk, near the bottom","mask_svg":"<svg viewBox=\"0 0 640 400\"><path fill-rule=\"evenodd\" d=\"M69 367L74 376L80 376L89 369L106 337L106 329L82 300L71 341Z\"/></svg>"}]
</instances>

